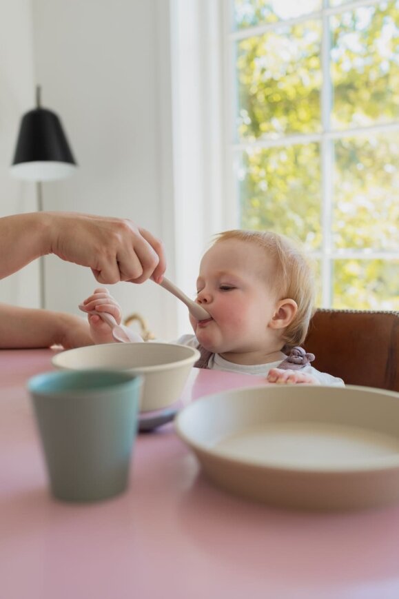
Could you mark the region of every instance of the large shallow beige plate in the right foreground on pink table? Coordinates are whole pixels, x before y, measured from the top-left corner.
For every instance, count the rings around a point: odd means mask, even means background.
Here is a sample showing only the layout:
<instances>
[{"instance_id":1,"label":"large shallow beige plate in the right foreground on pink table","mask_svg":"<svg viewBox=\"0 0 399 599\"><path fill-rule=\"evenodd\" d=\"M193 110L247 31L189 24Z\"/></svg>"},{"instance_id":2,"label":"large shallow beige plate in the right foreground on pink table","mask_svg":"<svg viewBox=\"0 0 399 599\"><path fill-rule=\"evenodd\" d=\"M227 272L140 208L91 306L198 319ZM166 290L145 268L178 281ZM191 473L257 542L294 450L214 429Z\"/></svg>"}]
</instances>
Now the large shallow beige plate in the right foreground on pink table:
<instances>
[{"instance_id":1,"label":"large shallow beige plate in the right foreground on pink table","mask_svg":"<svg viewBox=\"0 0 399 599\"><path fill-rule=\"evenodd\" d=\"M399 394L280 386L202 398L178 435L219 487L270 505L362 509L399 501Z\"/></svg>"}]
</instances>

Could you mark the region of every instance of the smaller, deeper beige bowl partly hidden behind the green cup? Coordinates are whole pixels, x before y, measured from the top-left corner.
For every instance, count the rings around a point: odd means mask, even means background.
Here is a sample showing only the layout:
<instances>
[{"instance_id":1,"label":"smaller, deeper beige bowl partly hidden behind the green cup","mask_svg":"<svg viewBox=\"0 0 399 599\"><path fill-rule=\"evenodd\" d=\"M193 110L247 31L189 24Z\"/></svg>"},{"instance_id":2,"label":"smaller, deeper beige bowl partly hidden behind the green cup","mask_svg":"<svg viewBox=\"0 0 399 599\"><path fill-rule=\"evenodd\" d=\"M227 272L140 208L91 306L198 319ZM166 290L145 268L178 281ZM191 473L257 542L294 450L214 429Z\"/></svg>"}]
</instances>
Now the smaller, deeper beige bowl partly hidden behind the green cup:
<instances>
[{"instance_id":1,"label":"smaller, deeper beige bowl partly hidden behind the green cup","mask_svg":"<svg viewBox=\"0 0 399 599\"><path fill-rule=\"evenodd\" d=\"M64 370L107 369L143 374L141 412L178 400L190 370L200 357L194 347L174 343L109 343L68 349L52 358Z\"/></svg>"}]
</instances>

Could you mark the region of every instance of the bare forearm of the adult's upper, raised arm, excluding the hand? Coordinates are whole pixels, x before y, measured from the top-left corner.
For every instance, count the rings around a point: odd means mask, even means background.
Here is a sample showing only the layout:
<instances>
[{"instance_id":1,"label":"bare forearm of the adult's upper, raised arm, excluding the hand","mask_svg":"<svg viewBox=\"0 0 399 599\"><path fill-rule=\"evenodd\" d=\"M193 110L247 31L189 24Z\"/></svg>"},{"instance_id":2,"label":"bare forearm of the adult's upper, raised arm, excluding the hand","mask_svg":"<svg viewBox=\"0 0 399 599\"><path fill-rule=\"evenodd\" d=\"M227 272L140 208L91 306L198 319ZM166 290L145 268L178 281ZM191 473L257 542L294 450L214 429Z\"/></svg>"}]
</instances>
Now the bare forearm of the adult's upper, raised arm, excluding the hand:
<instances>
[{"instance_id":1,"label":"bare forearm of the adult's upper, raised arm, excluding the hand","mask_svg":"<svg viewBox=\"0 0 399 599\"><path fill-rule=\"evenodd\" d=\"M50 231L45 213L13 214L0 219L0 278L49 252Z\"/></svg>"}]
</instances>

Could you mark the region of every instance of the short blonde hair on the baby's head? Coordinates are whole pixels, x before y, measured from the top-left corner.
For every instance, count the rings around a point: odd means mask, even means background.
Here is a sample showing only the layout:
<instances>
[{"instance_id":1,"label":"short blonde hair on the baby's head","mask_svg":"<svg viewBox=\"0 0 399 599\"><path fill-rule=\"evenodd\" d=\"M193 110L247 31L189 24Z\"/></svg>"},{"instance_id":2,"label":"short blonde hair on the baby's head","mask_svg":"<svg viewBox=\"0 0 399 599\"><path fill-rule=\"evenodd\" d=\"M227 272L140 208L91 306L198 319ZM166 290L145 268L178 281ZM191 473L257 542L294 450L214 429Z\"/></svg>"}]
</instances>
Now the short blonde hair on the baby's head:
<instances>
[{"instance_id":1,"label":"short blonde hair on the baby's head","mask_svg":"<svg viewBox=\"0 0 399 599\"><path fill-rule=\"evenodd\" d=\"M283 332L283 351L303 343L314 312L314 273L305 254L287 237L270 231L225 231L216 235L214 244L227 239L254 243L272 257L278 299L290 298L298 305L295 318Z\"/></svg>"}]
</instances>

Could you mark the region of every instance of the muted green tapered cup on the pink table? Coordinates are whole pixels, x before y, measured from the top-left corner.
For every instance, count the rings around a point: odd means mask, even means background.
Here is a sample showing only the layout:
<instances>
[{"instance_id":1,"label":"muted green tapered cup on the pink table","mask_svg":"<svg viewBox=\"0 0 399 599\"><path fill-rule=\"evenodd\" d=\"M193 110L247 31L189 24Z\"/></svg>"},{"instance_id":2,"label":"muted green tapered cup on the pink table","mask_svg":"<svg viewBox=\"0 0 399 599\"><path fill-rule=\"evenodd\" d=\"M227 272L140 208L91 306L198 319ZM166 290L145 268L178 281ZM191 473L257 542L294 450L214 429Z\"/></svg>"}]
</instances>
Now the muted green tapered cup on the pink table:
<instances>
[{"instance_id":1,"label":"muted green tapered cup on the pink table","mask_svg":"<svg viewBox=\"0 0 399 599\"><path fill-rule=\"evenodd\" d=\"M143 377L124 372L45 372L30 378L52 494L98 501L125 491Z\"/></svg>"}]
</instances>

